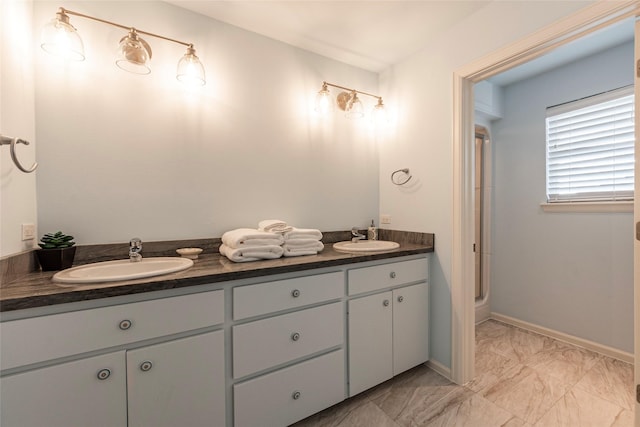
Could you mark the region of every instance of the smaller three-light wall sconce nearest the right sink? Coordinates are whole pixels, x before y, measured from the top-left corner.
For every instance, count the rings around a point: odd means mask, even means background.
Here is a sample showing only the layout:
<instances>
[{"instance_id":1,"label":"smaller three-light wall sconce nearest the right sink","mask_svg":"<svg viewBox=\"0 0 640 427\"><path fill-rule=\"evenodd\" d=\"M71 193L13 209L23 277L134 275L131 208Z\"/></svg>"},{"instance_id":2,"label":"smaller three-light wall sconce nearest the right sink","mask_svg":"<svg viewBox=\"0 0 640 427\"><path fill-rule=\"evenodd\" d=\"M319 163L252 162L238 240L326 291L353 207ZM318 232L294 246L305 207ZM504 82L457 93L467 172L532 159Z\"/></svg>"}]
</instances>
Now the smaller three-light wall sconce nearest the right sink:
<instances>
[{"instance_id":1,"label":"smaller three-light wall sconce nearest the right sink","mask_svg":"<svg viewBox=\"0 0 640 427\"><path fill-rule=\"evenodd\" d=\"M340 92L338 94L335 103L331 99L329 86L344 90L344 92ZM322 89L320 89L316 95L316 111L321 114L327 114L333 110L333 106L336 104L338 105L338 108L345 112L345 117L350 119L362 118L364 117L364 107L360 98L358 98L358 94L377 98L378 103L373 107L373 118L376 122L386 120L386 110L381 96L362 92L356 89L349 89L347 87L328 82L322 82Z\"/></svg>"}]
</instances>

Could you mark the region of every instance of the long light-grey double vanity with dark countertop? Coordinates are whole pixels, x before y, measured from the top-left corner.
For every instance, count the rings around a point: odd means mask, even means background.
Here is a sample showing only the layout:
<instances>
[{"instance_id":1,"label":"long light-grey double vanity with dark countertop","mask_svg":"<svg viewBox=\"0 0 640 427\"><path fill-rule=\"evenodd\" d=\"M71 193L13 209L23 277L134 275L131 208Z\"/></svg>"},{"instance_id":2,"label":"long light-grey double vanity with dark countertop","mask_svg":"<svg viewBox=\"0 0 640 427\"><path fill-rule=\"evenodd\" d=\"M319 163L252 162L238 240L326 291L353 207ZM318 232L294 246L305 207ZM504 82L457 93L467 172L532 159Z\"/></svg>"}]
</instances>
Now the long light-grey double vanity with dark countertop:
<instances>
[{"instance_id":1,"label":"long light-grey double vanity with dark countertop","mask_svg":"<svg viewBox=\"0 0 640 427\"><path fill-rule=\"evenodd\" d=\"M3 283L0 424L295 423L428 360L428 236L238 264L205 253L182 271L81 286L42 272Z\"/></svg>"}]
</instances>

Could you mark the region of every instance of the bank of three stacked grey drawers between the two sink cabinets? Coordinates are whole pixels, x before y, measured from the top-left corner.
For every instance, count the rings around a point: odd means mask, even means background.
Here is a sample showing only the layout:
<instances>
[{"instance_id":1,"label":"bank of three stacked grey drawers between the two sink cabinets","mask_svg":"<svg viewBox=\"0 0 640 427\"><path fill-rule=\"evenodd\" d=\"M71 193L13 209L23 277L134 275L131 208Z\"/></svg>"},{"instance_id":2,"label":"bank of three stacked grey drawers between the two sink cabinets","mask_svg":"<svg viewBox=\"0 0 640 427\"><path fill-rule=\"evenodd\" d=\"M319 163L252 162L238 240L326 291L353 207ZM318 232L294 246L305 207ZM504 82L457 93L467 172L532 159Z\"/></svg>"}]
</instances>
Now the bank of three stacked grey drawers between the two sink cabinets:
<instances>
[{"instance_id":1,"label":"bank of three stacked grey drawers between the two sink cabinets","mask_svg":"<svg viewBox=\"0 0 640 427\"><path fill-rule=\"evenodd\" d=\"M344 272L233 290L234 426L286 426L345 398ZM256 317L259 316L259 317Z\"/></svg>"}]
</instances>

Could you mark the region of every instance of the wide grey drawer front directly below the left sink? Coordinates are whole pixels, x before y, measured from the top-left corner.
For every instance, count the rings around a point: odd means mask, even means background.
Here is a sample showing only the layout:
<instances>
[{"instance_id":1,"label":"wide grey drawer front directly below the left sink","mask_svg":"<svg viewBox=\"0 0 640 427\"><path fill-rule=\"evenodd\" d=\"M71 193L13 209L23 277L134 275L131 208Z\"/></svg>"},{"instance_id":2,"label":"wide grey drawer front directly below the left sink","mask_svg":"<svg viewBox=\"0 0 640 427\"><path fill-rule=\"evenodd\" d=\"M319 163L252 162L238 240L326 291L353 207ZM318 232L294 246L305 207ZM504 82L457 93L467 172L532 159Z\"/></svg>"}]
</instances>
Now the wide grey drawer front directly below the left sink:
<instances>
[{"instance_id":1,"label":"wide grey drawer front directly below the left sink","mask_svg":"<svg viewBox=\"0 0 640 427\"><path fill-rule=\"evenodd\" d=\"M81 310L0 324L1 368L224 322L224 291Z\"/></svg>"}]
</instances>

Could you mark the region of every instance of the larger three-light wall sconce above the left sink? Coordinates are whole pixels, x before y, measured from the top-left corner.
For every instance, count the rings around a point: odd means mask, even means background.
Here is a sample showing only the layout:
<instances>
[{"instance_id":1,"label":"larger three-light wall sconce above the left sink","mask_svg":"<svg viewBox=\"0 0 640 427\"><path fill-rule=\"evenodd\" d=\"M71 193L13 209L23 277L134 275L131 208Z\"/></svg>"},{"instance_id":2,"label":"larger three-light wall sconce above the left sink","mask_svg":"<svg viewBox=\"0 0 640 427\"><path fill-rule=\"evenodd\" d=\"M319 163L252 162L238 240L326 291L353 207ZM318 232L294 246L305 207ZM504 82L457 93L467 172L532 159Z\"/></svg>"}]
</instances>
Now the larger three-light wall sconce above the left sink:
<instances>
[{"instance_id":1,"label":"larger three-light wall sconce above the left sink","mask_svg":"<svg viewBox=\"0 0 640 427\"><path fill-rule=\"evenodd\" d=\"M62 56L65 59L75 61L83 61L84 45L82 39L78 35L78 31L69 22L69 15L79 16L81 18L91 19L93 21L102 22L103 24L113 25L114 27L128 30L129 33L120 39L118 46L118 59L116 65L125 71L135 74L149 74L151 67L151 46L143 40L139 34L167 40L178 43L187 47L187 52L178 62L176 78L183 82L196 85L204 85L206 83L204 77L204 67L196 56L196 50L193 44L175 40L159 34L149 33L133 27L117 24L115 22L74 12L72 10L59 8L53 18L42 30L42 41L40 46L46 52Z\"/></svg>"}]
</instances>

